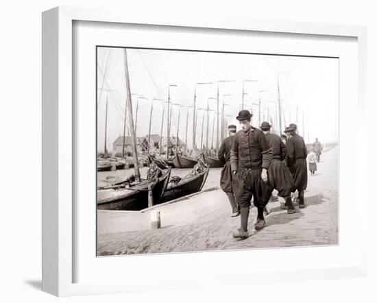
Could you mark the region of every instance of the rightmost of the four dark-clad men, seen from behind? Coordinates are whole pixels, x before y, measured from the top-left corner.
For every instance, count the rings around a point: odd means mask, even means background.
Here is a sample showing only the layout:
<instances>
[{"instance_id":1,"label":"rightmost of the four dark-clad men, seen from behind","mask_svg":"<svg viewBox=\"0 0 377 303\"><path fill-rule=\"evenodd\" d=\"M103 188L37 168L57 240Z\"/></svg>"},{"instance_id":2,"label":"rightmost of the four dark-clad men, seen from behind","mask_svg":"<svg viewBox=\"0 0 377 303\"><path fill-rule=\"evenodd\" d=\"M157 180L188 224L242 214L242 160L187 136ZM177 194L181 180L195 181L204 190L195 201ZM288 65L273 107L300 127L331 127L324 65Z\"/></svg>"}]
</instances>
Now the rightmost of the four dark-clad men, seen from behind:
<instances>
[{"instance_id":1,"label":"rightmost of the four dark-clad men, seen from behind","mask_svg":"<svg viewBox=\"0 0 377 303\"><path fill-rule=\"evenodd\" d=\"M306 150L304 138L299 136L296 130L297 126L293 123L284 130L289 137L287 141L287 166L293 177L294 186L292 192L298 191L298 206L304 208L304 191L308 184L308 167L306 165L308 151Z\"/></svg>"}]
</instances>

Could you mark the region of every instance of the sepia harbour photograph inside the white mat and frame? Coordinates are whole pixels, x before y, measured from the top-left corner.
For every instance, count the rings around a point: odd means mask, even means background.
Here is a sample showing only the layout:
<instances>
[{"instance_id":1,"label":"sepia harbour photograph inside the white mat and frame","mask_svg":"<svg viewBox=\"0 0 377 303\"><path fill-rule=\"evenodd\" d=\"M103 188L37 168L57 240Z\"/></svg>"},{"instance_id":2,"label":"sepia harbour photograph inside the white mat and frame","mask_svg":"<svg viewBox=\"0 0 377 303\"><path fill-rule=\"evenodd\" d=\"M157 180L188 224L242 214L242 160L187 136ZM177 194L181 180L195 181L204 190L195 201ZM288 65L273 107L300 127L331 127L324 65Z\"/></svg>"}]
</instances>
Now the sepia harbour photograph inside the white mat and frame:
<instances>
[{"instance_id":1,"label":"sepia harbour photograph inside the white mat and frame","mask_svg":"<svg viewBox=\"0 0 377 303\"><path fill-rule=\"evenodd\" d=\"M338 244L338 58L98 46L96 64L97 256Z\"/></svg>"}]
</instances>

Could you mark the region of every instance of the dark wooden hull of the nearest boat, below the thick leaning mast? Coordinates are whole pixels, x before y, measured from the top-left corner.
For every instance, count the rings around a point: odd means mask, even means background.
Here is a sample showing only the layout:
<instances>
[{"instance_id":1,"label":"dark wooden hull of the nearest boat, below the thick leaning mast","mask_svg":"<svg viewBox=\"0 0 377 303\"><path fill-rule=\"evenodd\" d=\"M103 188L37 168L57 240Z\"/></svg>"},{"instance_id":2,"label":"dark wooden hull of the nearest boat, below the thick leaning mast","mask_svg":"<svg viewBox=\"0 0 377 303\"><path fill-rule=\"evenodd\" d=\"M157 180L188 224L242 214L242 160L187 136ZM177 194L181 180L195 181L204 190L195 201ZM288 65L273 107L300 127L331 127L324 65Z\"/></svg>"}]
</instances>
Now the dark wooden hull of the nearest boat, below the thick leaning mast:
<instances>
[{"instance_id":1,"label":"dark wooden hull of the nearest boat, below the thick leaning mast","mask_svg":"<svg viewBox=\"0 0 377 303\"><path fill-rule=\"evenodd\" d=\"M130 189L100 189L97 191L98 210L141 210L148 207L148 185L152 186L154 204L162 202L169 182L171 170L156 181L145 181L130 187Z\"/></svg>"}]
</instances>

